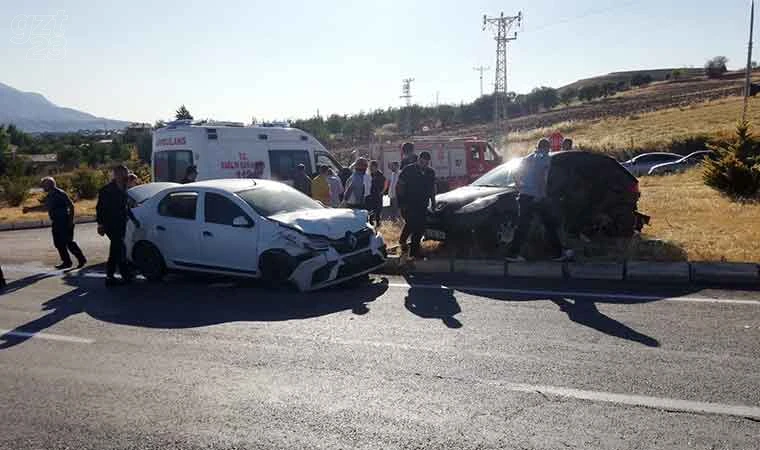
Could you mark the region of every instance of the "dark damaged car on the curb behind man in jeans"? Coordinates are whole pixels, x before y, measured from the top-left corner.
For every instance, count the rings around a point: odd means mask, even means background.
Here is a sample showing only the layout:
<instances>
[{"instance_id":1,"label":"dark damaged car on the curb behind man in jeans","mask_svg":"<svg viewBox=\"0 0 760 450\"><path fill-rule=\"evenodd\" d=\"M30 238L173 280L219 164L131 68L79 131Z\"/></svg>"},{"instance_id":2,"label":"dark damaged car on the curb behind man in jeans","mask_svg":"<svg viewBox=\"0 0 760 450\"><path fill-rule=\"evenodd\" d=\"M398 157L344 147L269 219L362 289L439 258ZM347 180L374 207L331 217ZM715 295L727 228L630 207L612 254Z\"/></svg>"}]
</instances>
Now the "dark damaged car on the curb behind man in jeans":
<instances>
[{"instance_id":1,"label":"dark damaged car on the curb behind man in jeans","mask_svg":"<svg viewBox=\"0 0 760 450\"><path fill-rule=\"evenodd\" d=\"M549 198L571 235L630 237L649 222L637 211L639 182L616 160L598 153L551 154ZM491 170L468 186L436 196L426 239L505 246L517 226L515 174L520 159Z\"/></svg>"}]
</instances>

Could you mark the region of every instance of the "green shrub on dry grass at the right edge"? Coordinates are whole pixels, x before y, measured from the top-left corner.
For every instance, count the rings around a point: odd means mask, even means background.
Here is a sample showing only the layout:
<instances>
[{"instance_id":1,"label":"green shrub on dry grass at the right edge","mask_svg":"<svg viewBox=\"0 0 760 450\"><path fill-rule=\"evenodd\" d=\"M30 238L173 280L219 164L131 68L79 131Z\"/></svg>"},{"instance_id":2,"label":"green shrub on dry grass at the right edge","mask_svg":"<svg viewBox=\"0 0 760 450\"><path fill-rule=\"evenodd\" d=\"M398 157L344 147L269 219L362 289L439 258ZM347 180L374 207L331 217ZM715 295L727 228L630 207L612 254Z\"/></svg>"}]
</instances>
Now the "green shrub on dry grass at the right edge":
<instances>
[{"instance_id":1,"label":"green shrub on dry grass at the right edge","mask_svg":"<svg viewBox=\"0 0 760 450\"><path fill-rule=\"evenodd\" d=\"M753 198L760 193L760 142L747 122L736 128L733 142L710 146L718 154L706 160L702 177L705 184L734 198Z\"/></svg>"}]
</instances>

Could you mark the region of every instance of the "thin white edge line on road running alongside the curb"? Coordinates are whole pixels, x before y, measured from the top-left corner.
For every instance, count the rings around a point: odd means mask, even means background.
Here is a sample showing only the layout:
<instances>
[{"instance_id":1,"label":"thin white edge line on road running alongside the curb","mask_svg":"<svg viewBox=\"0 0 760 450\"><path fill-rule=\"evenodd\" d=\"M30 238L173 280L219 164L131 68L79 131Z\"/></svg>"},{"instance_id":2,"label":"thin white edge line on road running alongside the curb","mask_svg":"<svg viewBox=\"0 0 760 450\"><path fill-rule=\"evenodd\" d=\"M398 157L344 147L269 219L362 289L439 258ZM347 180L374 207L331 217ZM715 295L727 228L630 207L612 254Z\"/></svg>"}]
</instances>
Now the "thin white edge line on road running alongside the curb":
<instances>
[{"instance_id":1,"label":"thin white edge line on road running alongside the curb","mask_svg":"<svg viewBox=\"0 0 760 450\"><path fill-rule=\"evenodd\" d=\"M599 292L582 292L582 291L552 291L544 289L507 289L507 288L491 288L480 286L448 286L445 284L408 284L408 283L388 283L388 287L394 288L416 288L416 289L439 289L439 290L453 290L453 291L473 291L483 293L494 294L517 294L517 295L536 295L542 297L581 297L581 298L599 298L599 299L618 299L618 300L642 300L642 301L655 301L655 300L667 300L671 302L690 302L690 303L729 303L735 305L753 305L760 306L760 300L739 300L739 299L721 299L721 298L709 298L709 297L667 297L664 295L635 295L635 294L616 294L611 293L599 293ZM760 295L760 294L758 294Z\"/></svg>"}]
</instances>

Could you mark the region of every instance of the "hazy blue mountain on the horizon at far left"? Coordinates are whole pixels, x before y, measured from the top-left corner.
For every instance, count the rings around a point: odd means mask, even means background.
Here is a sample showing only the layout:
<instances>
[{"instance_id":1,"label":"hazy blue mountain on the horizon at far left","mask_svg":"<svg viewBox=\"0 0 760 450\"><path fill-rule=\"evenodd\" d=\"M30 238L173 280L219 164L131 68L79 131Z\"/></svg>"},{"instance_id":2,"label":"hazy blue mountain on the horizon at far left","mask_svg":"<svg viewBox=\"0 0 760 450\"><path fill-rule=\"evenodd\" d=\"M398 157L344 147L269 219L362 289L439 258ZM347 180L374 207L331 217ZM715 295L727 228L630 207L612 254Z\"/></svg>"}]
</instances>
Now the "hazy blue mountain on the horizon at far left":
<instances>
[{"instance_id":1,"label":"hazy blue mountain on the horizon at far left","mask_svg":"<svg viewBox=\"0 0 760 450\"><path fill-rule=\"evenodd\" d=\"M129 125L53 104L36 92L0 83L0 124L15 124L27 133L120 129Z\"/></svg>"}]
</instances>

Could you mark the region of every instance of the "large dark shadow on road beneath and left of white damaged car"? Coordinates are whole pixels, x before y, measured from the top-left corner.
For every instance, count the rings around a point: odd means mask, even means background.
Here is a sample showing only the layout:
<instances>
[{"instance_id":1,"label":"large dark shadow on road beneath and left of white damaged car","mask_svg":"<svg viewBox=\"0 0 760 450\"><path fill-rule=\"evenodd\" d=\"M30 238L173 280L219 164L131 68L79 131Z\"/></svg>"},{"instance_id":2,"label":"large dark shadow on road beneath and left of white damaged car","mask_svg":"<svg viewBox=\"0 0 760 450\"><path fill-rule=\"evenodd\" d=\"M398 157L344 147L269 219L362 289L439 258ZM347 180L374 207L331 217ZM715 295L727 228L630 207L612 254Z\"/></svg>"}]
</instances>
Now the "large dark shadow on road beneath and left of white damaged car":
<instances>
[{"instance_id":1,"label":"large dark shadow on road beneath and left of white damaged car","mask_svg":"<svg viewBox=\"0 0 760 450\"><path fill-rule=\"evenodd\" d=\"M367 303L388 290L387 280L298 294L231 283L216 287L203 278L183 282L137 282L108 289L86 271L64 276L76 289L43 303L48 314L0 335L0 350L19 345L75 314L147 328L194 328L228 322L308 319L341 311L369 313Z\"/></svg>"}]
</instances>

